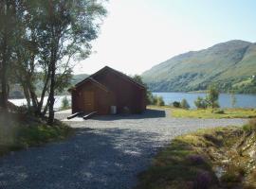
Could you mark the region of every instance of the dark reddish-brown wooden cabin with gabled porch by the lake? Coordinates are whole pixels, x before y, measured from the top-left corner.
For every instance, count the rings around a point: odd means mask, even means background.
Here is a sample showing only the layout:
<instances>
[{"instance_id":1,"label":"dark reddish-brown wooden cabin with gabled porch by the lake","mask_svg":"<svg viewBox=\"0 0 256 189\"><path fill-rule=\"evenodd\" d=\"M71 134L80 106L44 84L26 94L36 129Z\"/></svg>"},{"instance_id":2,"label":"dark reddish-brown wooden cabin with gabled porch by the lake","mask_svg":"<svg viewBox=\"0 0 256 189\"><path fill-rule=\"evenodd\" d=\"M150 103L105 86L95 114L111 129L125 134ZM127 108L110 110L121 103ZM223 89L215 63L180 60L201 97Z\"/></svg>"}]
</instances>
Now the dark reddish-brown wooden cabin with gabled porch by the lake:
<instances>
[{"instance_id":1,"label":"dark reddish-brown wooden cabin with gabled porch by the lake","mask_svg":"<svg viewBox=\"0 0 256 189\"><path fill-rule=\"evenodd\" d=\"M72 95L72 113L116 114L146 110L146 88L108 66L84 78L69 92Z\"/></svg>"}]
</instances>

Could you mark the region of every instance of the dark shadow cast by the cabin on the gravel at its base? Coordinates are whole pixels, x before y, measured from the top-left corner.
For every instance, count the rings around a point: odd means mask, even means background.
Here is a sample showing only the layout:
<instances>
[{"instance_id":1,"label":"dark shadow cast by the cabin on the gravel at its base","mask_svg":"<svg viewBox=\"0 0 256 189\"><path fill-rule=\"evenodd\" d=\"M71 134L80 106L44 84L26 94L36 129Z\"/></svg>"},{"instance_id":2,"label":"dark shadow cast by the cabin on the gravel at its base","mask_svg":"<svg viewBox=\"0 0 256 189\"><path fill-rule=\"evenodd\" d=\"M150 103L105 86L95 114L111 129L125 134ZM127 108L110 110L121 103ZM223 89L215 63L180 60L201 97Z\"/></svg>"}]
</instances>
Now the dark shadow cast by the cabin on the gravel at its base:
<instances>
[{"instance_id":1,"label":"dark shadow cast by the cabin on the gravel at its base","mask_svg":"<svg viewBox=\"0 0 256 189\"><path fill-rule=\"evenodd\" d=\"M113 121L119 119L146 119L146 118L159 118L165 117L166 112L161 110L146 110L138 114L116 114L116 115L98 115L92 117L93 120Z\"/></svg>"}]
</instances>

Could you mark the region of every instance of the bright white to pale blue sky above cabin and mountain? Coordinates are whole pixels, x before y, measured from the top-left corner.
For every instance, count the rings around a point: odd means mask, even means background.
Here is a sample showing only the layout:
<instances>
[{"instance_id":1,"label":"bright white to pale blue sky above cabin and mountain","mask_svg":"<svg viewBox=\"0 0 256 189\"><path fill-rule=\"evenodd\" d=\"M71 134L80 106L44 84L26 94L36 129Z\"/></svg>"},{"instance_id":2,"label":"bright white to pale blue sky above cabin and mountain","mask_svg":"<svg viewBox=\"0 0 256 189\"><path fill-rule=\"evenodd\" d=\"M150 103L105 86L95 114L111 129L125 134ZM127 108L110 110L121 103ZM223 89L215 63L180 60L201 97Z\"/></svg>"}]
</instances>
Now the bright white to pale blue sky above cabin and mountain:
<instances>
[{"instance_id":1,"label":"bright white to pale blue sky above cabin and mountain","mask_svg":"<svg viewBox=\"0 0 256 189\"><path fill-rule=\"evenodd\" d=\"M92 54L75 74L108 65L140 75L188 51L229 40L256 42L255 0L109 0Z\"/></svg>"}]
</instances>

